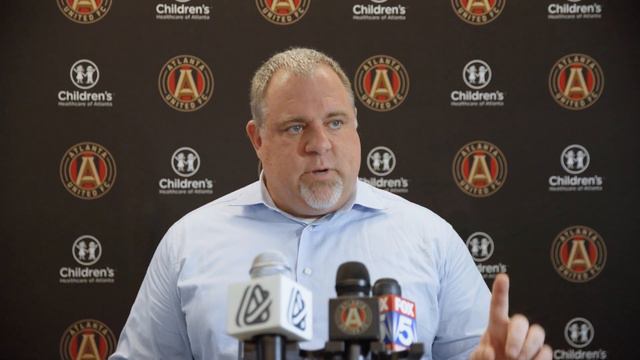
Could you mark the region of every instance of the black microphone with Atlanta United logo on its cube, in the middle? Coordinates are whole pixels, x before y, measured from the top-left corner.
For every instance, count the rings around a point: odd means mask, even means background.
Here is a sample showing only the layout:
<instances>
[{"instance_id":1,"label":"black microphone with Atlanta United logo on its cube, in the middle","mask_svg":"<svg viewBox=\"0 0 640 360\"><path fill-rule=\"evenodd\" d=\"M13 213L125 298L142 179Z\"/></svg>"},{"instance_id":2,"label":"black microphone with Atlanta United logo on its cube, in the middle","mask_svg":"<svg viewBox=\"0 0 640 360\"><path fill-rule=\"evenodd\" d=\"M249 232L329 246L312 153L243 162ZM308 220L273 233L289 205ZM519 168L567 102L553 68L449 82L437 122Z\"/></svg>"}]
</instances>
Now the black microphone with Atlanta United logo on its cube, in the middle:
<instances>
[{"instance_id":1,"label":"black microphone with Atlanta United logo on its cube, in the middle","mask_svg":"<svg viewBox=\"0 0 640 360\"><path fill-rule=\"evenodd\" d=\"M360 262L346 262L336 274L336 299L329 300L330 352L345 352L348 359L366 356L380 340L378 299L371 297L369 271Z\"/></svg>"}]
</instances>

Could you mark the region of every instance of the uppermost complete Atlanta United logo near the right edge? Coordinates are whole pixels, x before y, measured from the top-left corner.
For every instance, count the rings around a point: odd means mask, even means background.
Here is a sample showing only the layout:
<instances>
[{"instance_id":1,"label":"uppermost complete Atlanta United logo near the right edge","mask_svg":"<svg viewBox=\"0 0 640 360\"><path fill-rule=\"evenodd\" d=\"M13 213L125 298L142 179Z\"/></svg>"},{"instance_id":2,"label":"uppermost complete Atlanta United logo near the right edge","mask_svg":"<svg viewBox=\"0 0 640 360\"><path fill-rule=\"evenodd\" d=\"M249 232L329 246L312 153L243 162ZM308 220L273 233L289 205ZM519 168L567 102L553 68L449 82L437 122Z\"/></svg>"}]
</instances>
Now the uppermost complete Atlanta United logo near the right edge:
<instances>
[{"instance_id":1,"label":"uppermost complete Atlanta United logo near the right edge","mask_svg":"<svg viewBox=\"0 0 640 360\"><path fill-rule=\"evenodd\" d=\"M567 55L551 68L549 91L553 99L564 108L588 108L600 98L603 89L602 68L587 55Z\"/></svg>"}]
</instances>

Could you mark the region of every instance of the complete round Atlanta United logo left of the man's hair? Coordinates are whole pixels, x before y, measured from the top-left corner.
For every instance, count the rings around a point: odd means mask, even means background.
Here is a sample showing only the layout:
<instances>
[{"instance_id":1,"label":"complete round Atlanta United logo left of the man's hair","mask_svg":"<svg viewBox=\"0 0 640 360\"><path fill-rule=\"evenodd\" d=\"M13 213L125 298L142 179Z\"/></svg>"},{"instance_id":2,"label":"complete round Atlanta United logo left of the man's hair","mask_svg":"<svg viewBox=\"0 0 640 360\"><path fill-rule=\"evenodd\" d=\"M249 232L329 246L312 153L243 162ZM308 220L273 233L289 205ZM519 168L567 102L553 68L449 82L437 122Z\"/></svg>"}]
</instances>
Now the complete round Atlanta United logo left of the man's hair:
<instances>
[{"instance_id":1,"label":"complete round Atlanta United logo left of the man's hair","mask_svg":"<svg viewBox=\"0 0 640 360\"><path fill-rule=\"evenodd\" d=\"M195 56L176 56L162 67L158 89L162 99L175 110L196 111L211 99L213 74Z\"/></svg>"}]
</instances>

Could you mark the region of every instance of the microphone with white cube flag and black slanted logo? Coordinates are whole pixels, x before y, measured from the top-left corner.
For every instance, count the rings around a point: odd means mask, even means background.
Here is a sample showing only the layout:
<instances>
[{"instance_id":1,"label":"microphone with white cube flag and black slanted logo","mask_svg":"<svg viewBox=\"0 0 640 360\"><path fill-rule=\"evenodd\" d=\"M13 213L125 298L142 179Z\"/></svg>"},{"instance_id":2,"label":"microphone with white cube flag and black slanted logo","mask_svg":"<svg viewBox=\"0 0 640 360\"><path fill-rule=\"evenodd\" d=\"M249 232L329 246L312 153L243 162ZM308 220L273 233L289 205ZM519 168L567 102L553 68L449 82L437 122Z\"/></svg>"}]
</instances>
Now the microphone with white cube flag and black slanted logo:
<instances>
[{"instance_id":1,"label":"microphone with white cube flag and black slanted logo","mask_svg":"<svg viewBox=\"0 0 640 360\"><path fill-rule=\"evenodd\" d=\"M311 340L311 292L292 280L284 255L276 251L256 256L249 274L250 281L229 286L227 333L243 342L240 358L297 355L297 344L290 349L285 343Z\"/></svg>"}]
</instances>

